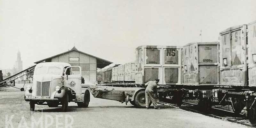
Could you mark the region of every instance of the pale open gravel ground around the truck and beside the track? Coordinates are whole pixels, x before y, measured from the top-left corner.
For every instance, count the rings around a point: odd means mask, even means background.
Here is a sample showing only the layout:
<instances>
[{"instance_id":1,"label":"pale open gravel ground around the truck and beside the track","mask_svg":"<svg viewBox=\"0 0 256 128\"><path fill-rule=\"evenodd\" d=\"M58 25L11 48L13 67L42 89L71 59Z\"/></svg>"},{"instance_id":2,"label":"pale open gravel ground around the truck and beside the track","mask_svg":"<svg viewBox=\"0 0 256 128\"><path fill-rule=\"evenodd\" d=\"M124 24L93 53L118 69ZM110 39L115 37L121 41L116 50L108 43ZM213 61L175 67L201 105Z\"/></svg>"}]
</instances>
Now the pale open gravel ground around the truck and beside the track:
<instances>
[{"instance_id":1,"label":"pale open gravel ground around the truck and beside the track","mask_svg":"<svg viewBox=\"0 0 256 128\"><path fill-rule=\"evenodd\" d=\"M28 85L28 84L26 84ZM32 85L32 84L31 84ZM22 87L23 84L16 84ZM26 86L25 86L26 87ZM30 112L24 92L15 88L0 88L0 127L87 127L87 128L245 128L248 126L220 120L178 108L139 109L130 103L93 98L89 108L78 108L69 103L68 112L60 108L36 105ZM6 123L7 122L7 123ZM36 126L36 123L38 125Z\"/></svg>"}]
</instances>

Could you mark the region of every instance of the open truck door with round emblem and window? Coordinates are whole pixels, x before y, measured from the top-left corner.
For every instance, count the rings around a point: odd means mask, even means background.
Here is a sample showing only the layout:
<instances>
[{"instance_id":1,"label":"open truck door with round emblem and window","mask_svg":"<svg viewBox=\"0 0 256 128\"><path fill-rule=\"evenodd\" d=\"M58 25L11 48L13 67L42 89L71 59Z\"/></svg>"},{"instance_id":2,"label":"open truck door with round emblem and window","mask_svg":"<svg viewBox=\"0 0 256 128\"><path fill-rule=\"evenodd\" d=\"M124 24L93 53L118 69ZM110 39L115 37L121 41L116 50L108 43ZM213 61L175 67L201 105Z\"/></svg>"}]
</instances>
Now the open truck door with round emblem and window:
<instances>
[{"instance_id":1,"label":"open truck door with round emblem and window","mask_svg":"<svg viewBox=\"0 0 256 128\"><path fill-rule=\"evenodd\" d=\"M63 84L65 87L71 88L76 93L81 93L81 67L70 66L65 69Z\"/></svg>"}]
</instances>

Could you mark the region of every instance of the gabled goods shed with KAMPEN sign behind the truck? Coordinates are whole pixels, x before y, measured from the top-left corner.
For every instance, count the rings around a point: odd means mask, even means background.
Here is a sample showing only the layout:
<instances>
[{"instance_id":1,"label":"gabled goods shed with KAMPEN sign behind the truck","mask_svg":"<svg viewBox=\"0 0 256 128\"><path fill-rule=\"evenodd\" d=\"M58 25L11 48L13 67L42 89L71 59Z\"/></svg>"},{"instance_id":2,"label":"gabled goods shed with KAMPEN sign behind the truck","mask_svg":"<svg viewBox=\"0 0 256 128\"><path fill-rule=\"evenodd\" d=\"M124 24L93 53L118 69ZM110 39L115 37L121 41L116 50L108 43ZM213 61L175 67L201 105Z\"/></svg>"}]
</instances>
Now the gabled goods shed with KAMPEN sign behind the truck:
<instances>
[{"instance_id":1,"label":"gabled goods shed with KAMPEN sign behind the truck","mask_svg":"<svg viewBox=\"0 0 256 128\"><path fill-rule=\"evenodd\" d=\"M67 52L39 60L35 63L38 64L41 62L65 62L72 66L80 66L82 68L82 76L84 77L84 80L91 83L97 82L97 68L104 68L112 63L108 60L81 52L77 50L75 46Z\"/></svg>"}]
</instances>

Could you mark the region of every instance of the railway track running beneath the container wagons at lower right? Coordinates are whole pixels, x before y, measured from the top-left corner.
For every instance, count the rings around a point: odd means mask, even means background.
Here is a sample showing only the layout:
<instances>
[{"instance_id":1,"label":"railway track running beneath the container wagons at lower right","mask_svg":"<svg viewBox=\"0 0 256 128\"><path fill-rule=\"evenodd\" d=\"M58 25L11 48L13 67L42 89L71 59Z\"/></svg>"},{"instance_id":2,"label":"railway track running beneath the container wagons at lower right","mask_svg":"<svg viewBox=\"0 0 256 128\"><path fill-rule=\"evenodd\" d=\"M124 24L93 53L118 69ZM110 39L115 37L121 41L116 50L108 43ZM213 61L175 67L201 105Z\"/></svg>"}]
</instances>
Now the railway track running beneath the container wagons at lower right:
<instances>
[{"instance_id":1,"label":"railway track running beneath the container wagons at lower right","mask_svg":"<svg viewBox=\"0 0 256 128\"><path fill-rule=\"evenodd\" d=\"M244 124L244 125L251 126L251 127L256 127L256 126L253 126L248 119L244 119L241 114L236 115L232 111L223 110L220 108L212 107L212 109L206 113L206 112L200 111L199 110L200 108L197 107L197 104L189 103L189 102L185 102L185 101L183 101L183 104L180 107L178 107L176 104L170 104L170 103L166 103L166 102L159 102L159 104L174 107L174 108L180 108L180 109L195 112L195 113L200 113L205 116L210 116L210 117L218 118L221 120L227 120L230 122L235 122L235 123Z\"/></svg>"}]
</instances>

